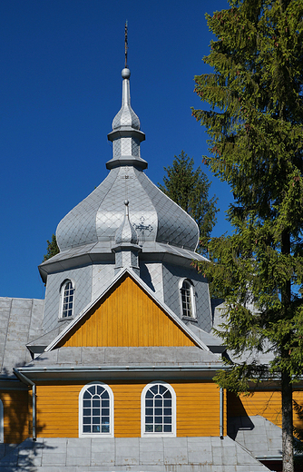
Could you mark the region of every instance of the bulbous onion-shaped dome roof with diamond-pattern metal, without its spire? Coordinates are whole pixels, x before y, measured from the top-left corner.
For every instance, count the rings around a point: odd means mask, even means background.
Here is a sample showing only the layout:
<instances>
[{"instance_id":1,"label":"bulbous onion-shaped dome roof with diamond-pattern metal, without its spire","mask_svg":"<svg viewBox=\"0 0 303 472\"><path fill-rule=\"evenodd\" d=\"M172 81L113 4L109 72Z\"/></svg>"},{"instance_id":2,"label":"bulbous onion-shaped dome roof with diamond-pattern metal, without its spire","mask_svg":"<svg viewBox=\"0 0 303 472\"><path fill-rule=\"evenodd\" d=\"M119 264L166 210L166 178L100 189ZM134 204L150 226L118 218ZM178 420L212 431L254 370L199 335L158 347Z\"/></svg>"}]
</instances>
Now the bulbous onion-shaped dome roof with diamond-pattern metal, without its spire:
<instances>
[{"instance_id":1,"label":"bulbous onion-shaped dome roof with diamond-pattern metal, without its spire","mask_svg":"<svg viewBox=\"0 0 303 472\"><path fill-rule=\"evenodd\" d=\"M114 241L124 218L125 200L130 202L130 219L142 246L156 241L195 251L199 240L196 222L132 166L112 169L103 183L60 221L60 250Z\"/></svg>"}]
</instances>

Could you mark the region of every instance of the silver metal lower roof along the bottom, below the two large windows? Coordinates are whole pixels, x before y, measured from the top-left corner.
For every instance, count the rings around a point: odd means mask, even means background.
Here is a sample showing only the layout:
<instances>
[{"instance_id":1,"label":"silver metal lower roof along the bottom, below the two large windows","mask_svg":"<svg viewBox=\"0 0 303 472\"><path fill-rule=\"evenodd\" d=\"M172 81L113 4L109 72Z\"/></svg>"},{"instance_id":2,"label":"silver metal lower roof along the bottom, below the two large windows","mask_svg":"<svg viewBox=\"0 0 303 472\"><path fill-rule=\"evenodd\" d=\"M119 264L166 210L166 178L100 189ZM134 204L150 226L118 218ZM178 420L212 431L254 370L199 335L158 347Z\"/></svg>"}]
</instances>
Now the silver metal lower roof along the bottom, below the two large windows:
<instances>
[{"instance_id":1,"label":"silver metal lower roof along the bottom, below the two large windows","mask_svg":"<svg viewBox=\"0 0 303 472\"><path fill-rule=\"evenodd\" d=\"M2 450L6 454L1 459ZM269 471L247 449L228 437L26 439L15 448L0 445L0 469L5 472Z\"/></svg>"}]
</instances>

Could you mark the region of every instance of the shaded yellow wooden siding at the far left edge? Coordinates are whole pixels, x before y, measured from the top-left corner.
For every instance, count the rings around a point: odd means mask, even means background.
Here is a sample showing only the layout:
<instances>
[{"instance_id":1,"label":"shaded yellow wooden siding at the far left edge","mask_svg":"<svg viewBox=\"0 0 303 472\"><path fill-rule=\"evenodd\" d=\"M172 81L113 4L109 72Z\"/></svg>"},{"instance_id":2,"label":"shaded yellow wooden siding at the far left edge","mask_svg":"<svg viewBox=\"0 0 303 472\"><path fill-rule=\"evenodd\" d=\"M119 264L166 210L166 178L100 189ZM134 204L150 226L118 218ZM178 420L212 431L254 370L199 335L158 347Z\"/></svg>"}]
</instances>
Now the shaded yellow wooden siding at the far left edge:
<instances>
[{"instance_id":1,"label":"shaded yellow wooden siding at the far left edge","mask_svg":"<svg viewBox=\"0 0 303 472\"><path fill-rule=\"evenodd\" d=\"M31 412L26 390L2 390L4 409L4 442L17 444L30 435Z\"/></svg>"}]
</instances>

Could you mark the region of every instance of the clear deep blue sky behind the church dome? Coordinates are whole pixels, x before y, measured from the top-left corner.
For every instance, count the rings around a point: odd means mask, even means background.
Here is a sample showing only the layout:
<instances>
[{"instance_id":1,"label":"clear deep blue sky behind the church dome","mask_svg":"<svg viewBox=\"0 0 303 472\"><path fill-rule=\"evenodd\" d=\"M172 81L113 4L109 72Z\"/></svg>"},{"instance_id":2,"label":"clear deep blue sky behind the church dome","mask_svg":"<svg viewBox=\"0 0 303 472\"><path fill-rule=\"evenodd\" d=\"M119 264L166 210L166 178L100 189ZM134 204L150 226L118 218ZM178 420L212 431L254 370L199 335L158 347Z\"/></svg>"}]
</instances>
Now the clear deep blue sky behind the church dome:
<instances>
[{"instance_id":1,"label":"clear deep blue sky behind the church dome","mask_svg":"<svg viewBox=\"0 0 303 472\"><path fill-rule=\"evenodd\" d=\"M107 175L107 133L121 106L124 23L129 24L132 108L146 141L147 174L184 150L200 165L207 134L191 117L195 74L208 68L205 12L227 0L2 0L0 3L0 296L43 298L37 270L58 222ZM230 231L230 189L214 234Z\"/></svg>"}]
</instances>

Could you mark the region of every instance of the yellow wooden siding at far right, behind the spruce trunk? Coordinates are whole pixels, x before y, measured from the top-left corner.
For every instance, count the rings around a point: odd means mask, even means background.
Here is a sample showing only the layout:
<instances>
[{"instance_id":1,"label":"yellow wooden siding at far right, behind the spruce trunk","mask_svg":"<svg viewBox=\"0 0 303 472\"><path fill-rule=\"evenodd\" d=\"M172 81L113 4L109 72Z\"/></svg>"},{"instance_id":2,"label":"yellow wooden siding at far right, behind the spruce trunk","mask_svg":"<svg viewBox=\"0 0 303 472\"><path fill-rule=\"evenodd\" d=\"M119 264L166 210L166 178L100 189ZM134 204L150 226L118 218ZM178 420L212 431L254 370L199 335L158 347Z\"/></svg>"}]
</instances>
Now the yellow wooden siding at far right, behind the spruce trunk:
<instances>
[{"instance_id":1,"label":"yellow wooden siding at far right, behind the spruce trunk","mask_svg":"<svg viewBox=\"0 0 303 472\"><path fill-rule=\"evenodd\" d=\"M294 391L293 398L298 401L299 405L303 405L303 391ZM281 410L281 392L273 390L255 391L253 395L246 397L229 392L229 417L238 416L255 416L269 419L272 423L282 426L282 410ZM303 422L298 419L298 415L294 412L294 425L303 428Z\"/></svg>"}]
</instances>

